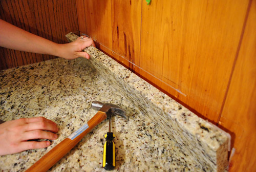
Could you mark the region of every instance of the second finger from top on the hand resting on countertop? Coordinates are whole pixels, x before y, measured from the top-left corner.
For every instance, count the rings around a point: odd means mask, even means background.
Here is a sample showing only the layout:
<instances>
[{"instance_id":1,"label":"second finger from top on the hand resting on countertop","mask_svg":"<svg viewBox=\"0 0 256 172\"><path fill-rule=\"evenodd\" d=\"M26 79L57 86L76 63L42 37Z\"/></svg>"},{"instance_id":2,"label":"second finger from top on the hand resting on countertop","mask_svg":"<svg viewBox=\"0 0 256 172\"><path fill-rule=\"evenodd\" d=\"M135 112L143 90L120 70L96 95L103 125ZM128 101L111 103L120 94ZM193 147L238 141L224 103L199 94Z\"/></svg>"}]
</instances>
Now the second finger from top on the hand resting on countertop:
<instances>
[{"instance_id":1,"label":"second finger from top on the hand resting on countertop","mask_svg":"<svg viewBox=\"0 0 256 172\"><path fill-rule=\"evenodd\" d=\"M33 130L46 130L46 131L56 133L58 132L58 127L57 127L57 124L49 122L48 120L37 121L37 122L26 124L25 131L33 131Z\"/></svg>"}]
</instances>

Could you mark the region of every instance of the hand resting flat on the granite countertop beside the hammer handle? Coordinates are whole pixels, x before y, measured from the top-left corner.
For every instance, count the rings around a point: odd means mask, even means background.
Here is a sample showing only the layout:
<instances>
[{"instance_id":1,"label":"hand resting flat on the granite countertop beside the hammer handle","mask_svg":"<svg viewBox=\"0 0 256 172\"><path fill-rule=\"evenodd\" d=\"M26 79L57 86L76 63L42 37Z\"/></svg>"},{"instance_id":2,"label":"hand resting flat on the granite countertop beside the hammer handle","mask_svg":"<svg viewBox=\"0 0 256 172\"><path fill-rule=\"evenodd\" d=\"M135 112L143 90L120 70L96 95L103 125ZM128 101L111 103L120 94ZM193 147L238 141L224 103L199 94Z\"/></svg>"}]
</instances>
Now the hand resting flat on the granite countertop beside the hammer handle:
<instances>
[{"instance_id":1,"label":"hand resting flat on the granite countertop beside the hammer handle","mask_svg":"<svg viewBox=\"0 0 256 172\"><path fill-rule=\"evenodd\" d=\"M48 132L49 131L49 132ZM23 150L48 147L50 141L33 139L57 139L57 124L44 117L23 118L0 124L0 156Z\"/></svg>"}]
</instances>

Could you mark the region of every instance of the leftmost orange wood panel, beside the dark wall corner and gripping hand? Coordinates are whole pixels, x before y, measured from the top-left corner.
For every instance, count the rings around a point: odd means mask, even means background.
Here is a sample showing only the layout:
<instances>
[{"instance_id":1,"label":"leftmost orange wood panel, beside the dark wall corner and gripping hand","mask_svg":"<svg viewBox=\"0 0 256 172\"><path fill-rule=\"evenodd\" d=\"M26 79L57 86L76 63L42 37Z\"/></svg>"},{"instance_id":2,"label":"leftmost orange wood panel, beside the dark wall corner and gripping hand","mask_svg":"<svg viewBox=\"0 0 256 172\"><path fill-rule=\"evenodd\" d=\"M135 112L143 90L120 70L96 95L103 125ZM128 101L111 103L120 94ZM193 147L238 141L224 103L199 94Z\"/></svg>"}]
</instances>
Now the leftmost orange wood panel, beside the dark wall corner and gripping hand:
<instances>
[{"instance_id":1,"label":"leftmost orange wood panel, beside the dark wall corner and gripping hand","mask_svg":"<svg viewBox=\"0 0 256 172\"><path fill-rule=\"evenodd\" d=\"M77 0L77 12L84 13L86 19L79 19L80 33L92 37L96 47L105 54L117 59L119 55L112 50L112 16L111 0ZM86 27L86 29L85 29ZM129 63L123 64L129 66Z\"/></svg>"}]
</instances>

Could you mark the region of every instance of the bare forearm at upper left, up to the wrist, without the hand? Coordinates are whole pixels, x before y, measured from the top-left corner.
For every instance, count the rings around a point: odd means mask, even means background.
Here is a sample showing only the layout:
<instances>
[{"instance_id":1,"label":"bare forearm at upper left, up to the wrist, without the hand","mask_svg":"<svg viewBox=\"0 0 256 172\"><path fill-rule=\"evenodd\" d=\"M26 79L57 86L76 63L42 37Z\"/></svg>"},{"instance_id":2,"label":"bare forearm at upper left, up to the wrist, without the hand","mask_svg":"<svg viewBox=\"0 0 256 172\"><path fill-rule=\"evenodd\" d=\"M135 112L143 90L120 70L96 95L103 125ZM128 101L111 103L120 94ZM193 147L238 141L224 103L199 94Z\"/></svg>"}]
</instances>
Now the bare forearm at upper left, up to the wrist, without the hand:
<instances>
[{"instance_id":1,"label":"bare forearm at upper left, up to the wrist, without the hand","mask_svg":"<svg viewBox=\"0 0 256 172\"><path fill-rule=\"evenodd\" d=\"M59 45L0 19L0 46L20 51L58 56Z\"/></svg>"}]
</instances>

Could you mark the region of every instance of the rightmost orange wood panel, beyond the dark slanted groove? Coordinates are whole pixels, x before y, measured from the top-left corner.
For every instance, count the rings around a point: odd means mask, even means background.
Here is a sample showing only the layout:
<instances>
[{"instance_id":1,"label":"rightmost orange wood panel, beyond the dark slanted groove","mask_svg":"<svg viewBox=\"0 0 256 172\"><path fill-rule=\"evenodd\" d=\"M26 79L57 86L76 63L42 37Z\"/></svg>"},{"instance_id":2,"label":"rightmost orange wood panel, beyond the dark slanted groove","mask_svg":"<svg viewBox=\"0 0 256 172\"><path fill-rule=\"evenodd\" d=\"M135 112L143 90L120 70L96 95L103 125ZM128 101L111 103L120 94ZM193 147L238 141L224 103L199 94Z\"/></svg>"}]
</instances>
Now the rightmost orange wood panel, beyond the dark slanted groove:
<instances>
[{"instance_id":1,"label":"rightmost orange wood panel, beyond the dark slanted groove","mask_svg":"<svg viewBox=\"0 0 256 172\"><path fill-rule=\"evenodd\" d=\"M256 156L256 1L252 1L219 124L228 128L236 152L230 171L255 171Z\"/></svg>"}]
</instances>

